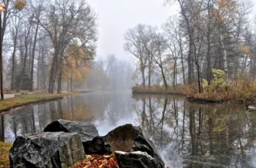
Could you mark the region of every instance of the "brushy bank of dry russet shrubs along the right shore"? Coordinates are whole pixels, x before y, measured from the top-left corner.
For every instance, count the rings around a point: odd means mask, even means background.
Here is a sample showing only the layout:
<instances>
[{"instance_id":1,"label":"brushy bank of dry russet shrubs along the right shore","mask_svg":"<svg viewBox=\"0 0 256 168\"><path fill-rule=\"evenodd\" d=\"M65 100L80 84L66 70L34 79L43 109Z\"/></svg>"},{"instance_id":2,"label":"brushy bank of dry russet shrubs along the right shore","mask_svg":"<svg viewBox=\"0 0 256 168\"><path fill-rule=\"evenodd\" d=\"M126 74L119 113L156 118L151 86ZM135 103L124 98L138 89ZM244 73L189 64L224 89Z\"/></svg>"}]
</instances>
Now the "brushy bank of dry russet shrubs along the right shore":
<instances>
[{"instance_id":1,"label":"brushy bank of dry russet shrubs along the right shore","mask_svg":"<svg viewBox=\"0 0 256 168\"><path fill-rule=\"evenodd\" d=\"M177 86L165 89L163 86L132 87L133 93L177 94L185 95L193 102L235 102L238 104L256 103L256 83L232 81L225 88L204 86L203 93L199 93L196 84L191 86Z\"/></svg>"}]
</instances>

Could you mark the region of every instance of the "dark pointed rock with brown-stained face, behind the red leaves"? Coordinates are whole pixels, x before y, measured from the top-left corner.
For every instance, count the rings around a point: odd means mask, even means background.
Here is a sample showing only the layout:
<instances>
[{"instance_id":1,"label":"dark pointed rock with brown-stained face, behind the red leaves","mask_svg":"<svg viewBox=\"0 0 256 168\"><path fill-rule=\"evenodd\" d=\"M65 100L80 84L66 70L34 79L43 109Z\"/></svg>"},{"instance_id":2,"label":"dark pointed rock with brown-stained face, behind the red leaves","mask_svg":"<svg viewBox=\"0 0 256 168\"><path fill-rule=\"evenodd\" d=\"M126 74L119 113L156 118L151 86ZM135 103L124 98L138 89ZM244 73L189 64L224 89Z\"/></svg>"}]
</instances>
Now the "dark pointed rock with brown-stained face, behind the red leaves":
<instances>
[{"instance_id":1,"label":"dark pointed rock with brown-stained face, behind the red leaves","mask_svg":"<svg viewBox=\"0 0 256 168\"><path fill-rule=\"evenodd\" d=\"M143 153L147 153L150 157L154 158L154 162L156 165L160 165L159 167L164 168L164 161L161 159L157 150L154 148L154 145L148 141L144 134L141 131L141 128L134 127L132 124L125 124L115 130L110 131L105 137L105 142L107 144L111 144L112 151L123 151L123 152L137 152L141 151ZM126 153L122 153L123 155L127 155ZM131 153L130 161L134 161L136 163L141 162L140 157L144 158L145 155L141 155L137 153ZM121 163L125 157L117 157L118 163ZM145 161L145 163L151 163ZM119 165L120 166L120 165ZM125 167L125 166L124 166ZM130 166L133 167L133 166ZM140 167L149 167L147 164ZM154 166L153 166L154 167Z\"/></svg>"}]
</instances>

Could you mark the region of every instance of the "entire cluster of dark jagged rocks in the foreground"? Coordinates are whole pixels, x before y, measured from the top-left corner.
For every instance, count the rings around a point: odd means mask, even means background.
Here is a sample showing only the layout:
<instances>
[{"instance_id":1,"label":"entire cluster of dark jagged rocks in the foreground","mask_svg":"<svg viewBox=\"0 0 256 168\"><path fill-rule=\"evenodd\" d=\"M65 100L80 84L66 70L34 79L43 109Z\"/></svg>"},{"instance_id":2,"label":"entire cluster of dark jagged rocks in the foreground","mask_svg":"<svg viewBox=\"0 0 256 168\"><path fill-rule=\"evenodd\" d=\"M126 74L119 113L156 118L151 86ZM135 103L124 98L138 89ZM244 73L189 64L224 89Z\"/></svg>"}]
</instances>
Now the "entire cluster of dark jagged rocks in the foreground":
<instances>
[{"instance_id":1,"label":"entire cluster of dark jagged rocks in the foreground","mask_svg":"<svg viewBox=\"0 0 256 168\"><path fill-rule=\"evenodd\" d=\"M141 128L132 124L115 128L104 137L99 136L93 124L78 121L53 121L44 131L16 138L10 152L11 167L69 167L83 160L86 154L115 152L121 168L164 168L154 145L144 137ZM93 165L97 161L98 166L105 161L116 165L115 160L106 156L90 161ZM86 162L81 165L87 167Z\"/></svg>"}]
</instances>

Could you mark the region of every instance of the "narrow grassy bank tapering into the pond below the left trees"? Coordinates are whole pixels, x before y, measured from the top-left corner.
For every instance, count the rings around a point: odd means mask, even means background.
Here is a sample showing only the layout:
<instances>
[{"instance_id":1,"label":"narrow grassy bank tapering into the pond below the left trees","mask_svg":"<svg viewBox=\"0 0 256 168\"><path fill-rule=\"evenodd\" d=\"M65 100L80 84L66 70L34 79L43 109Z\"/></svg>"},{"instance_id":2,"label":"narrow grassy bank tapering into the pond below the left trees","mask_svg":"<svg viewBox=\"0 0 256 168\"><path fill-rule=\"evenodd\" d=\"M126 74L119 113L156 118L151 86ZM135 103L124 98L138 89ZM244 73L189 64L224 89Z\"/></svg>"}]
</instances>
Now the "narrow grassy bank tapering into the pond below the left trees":
<instances>
[{"instance_id":1,"label":"narrow grassy bank tapering into the pond below the left trees","mask_svg":"<svg viewBox=\"0 0 256 168\"><path fill-rule=\"evenodd\" d=\"M17 108L23 105L31 103L44 102L54 99L62 99L68 95L75 95L77 93L69 92L62 94L49 94L49 93L37 93L31 95L16 95L15 98L5 99L0 101L0 114L3 111L8 111L11 108Z\"/></svg>"}]
</instances>

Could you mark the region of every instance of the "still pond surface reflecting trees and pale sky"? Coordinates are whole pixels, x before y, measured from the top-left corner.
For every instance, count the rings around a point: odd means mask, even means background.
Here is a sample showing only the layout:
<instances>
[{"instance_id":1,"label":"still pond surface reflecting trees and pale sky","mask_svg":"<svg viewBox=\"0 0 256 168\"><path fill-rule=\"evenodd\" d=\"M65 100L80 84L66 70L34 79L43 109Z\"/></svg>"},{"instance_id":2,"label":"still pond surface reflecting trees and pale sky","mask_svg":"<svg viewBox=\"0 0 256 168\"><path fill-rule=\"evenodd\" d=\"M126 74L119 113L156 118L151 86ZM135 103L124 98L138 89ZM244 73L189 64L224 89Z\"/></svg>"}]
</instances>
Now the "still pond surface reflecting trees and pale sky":
<instances>
[{"instance_id":1,"label":"still pond surface reflecting trees and pale sky","mask_svg":"<svg viewBox=\"0 0 256 168\"><path fill-rule=\"evenodd\" d=\"M0 138L44 130L59 118L90 121L100 135L141 126L169 167L256 167L256 112L241 105L198 105L174 95L89 92L0 116Z\"/></svg>"}]
</instances>

